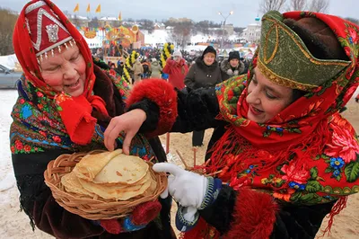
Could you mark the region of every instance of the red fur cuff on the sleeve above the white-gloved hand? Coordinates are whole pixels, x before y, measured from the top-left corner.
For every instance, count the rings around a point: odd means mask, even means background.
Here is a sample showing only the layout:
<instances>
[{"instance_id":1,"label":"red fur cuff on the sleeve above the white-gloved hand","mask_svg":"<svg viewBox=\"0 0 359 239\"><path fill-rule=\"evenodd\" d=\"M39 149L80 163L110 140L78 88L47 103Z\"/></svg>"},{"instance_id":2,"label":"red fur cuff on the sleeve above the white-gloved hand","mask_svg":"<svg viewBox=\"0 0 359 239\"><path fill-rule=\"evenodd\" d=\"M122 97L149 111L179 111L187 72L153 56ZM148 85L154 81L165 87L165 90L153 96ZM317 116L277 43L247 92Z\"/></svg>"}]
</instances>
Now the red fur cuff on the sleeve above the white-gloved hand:
<instances>
[{"instance_id":1,"label":"red fur cuff on the sleeve above the white-gloved hand","mask_svg":"<svg viewBox=\"0 0 359 239\"><path fill-rule=\"evenodd\" d=\"M272 234L278 205L267 193L257 190L239 190L233 210L230 230L226 239L265 239Z\"/></svg>"}]
</instances>

